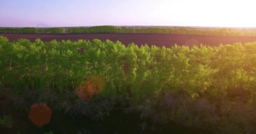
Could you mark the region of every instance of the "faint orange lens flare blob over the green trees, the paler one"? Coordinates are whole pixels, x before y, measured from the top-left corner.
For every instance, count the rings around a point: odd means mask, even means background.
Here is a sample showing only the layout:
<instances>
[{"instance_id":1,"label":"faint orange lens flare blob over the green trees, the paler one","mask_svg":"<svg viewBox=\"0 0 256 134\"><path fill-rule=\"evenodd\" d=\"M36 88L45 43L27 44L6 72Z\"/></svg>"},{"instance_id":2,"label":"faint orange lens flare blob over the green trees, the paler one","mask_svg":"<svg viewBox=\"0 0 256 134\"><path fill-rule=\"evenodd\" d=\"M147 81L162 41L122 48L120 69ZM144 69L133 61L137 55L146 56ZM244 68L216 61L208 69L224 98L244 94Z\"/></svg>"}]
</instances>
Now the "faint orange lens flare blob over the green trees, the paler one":
<instances>
[{"instance_id":1,"label":"faint orange lens flare blob over the green trees, the paler one","mask_svg":"<svg viewBox=\"0 0 256 134\"><path fill-rule=\"evenodd\" d=\"M92 76L77 87L76 94L81 99L88 99L95 94L101 93L105 88L105 81L100 76Z\"/></svg>"}]
</instances>

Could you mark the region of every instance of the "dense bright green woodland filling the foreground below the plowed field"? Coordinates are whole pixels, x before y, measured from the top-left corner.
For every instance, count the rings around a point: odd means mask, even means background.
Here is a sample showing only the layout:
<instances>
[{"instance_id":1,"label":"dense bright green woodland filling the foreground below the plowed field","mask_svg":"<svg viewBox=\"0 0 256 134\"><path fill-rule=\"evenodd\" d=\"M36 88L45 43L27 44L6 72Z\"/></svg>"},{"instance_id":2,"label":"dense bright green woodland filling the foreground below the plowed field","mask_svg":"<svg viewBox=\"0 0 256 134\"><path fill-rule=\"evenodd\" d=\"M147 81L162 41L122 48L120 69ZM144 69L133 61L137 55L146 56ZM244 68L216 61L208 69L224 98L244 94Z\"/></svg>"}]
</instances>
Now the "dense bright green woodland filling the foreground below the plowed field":
<instances>
[{"instance_id":1,"label":"dense bright green woodland filling the foreground below the plowed field","mask_svg":"<svg viewBox=\"0 0 256 134\"><path fill-rule=\"evenodd\" d=\"M71 122L47 129L51 134L78 126L118 134L252 134L255 52L256 42L160 48L0 36L0 129L25 134L17 124L29 121L32 104L44 102ZM83 126L88 120L96 124ZM101 127L104 121L112 126Z\"/></svg>"}]
</instances>

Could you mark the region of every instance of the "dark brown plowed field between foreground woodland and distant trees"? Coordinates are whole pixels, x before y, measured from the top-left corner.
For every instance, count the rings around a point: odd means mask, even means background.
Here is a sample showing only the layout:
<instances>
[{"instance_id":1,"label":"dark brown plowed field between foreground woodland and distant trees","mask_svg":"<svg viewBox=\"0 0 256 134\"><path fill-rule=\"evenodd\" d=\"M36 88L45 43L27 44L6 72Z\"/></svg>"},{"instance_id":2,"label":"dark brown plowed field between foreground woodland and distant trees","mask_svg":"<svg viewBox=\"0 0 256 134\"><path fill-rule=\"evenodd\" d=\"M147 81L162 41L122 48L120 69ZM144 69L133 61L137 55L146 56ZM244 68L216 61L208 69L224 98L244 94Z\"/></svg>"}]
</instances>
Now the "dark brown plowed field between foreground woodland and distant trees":
<instances>
[{"instance_id":1,"label":"dark brown plowed field between foreground woodland and distant trees","mask_svg":"<svg viewBox=\"0 0 256 134\"><path fill-rule=\"evenodd\" d=\"M106 39L112 41L121 41L127 45L131 42L141 44L155 44L157 46L170 47L173 44L192 46L193 44L206 44L211 46L222 44L233 44L235 42L249 42L256 41L256 37L246 36L209 36L209 35L185 35L185 34L147 34L147 33L120 33L120 34L51 34L51 33L36 33L36 34L19 34L19 33L0 33L0 36L6 36L10 41L20 38L26 38L30 41L34 41L40 38L42 41L51 41L56 39L77 41L78 39L100 39L104 41Z\"/></svg>"}]
</instances>

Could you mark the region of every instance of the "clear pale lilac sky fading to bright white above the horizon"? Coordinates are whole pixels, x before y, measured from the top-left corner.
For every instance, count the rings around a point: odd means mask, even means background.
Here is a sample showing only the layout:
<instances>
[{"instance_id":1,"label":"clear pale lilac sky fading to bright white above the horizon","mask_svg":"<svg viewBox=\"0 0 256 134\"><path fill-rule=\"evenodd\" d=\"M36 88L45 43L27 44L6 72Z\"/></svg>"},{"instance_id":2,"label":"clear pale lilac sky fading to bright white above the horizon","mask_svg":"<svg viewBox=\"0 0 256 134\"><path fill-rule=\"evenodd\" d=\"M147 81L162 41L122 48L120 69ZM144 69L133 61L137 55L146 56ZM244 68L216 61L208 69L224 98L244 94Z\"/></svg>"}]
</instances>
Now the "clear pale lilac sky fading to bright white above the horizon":
<instances>
[{"instance_id":1,"label":"clear pale lilac sky fading to bright white above the horizon","mask_svg":"<svg viewBox=\"0 0 256 134\"><path fill-rule=\"evenodd\" d=\"M255 27L254 0L0 0L0 27Z\"/></svg>"}]
</instances>

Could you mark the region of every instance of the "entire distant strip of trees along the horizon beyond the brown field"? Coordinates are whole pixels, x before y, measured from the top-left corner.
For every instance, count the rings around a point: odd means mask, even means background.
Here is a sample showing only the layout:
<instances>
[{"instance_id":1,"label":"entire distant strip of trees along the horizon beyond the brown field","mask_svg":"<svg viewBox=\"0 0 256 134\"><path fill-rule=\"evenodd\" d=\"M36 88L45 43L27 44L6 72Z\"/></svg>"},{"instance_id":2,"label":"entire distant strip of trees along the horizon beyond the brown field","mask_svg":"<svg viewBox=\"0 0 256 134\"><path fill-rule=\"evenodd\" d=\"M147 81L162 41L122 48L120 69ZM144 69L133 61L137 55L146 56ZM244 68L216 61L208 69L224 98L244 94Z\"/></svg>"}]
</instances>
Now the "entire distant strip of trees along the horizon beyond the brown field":
<instances>
[{"instance_id":1,"label":"entire distant strip of trees along the horizon beyond the brown field","mask_svg":"<svg viewBox=\"0 0 256 134\"><path fill-rule=\"evenodd\" d=\"M171 33L197 34L218 36L256 36L256 29L193 29L193 28L166 28L166 27L118 27L118 26L91 26L67 28L0 28L0 33Z\"/></svg>"}]
</instances>

